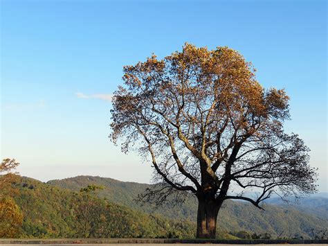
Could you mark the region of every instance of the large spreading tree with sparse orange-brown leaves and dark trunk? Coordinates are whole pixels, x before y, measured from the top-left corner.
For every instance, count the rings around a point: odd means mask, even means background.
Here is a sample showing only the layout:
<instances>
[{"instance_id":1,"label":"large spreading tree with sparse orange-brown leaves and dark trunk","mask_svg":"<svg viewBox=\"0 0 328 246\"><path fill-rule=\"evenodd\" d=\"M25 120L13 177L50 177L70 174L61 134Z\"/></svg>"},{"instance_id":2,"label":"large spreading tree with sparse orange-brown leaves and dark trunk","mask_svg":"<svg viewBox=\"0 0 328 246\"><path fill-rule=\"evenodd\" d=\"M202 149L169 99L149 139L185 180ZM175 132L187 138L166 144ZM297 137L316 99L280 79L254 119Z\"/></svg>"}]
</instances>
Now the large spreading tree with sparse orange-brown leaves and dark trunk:
<instances>
[{"instance_id":1,"label":"large spreading tree with sparse orange-brown leaves and dark trunk","mask_svg":"<svg viewBox=\"0 0 328 246\"><path fill-rule=\"evenodd\" d=\"M237 51L185 44L182 52L163 60L152 55L123 71L125 85L113 96L111 140L121 139L123 152L147 153L167 191L196 195L197 238L215 238L225 200L262 209L272 193L316 191L309 148L284 132L289 97L259 85L252 64Z\"/></svg>"}]
</instances>

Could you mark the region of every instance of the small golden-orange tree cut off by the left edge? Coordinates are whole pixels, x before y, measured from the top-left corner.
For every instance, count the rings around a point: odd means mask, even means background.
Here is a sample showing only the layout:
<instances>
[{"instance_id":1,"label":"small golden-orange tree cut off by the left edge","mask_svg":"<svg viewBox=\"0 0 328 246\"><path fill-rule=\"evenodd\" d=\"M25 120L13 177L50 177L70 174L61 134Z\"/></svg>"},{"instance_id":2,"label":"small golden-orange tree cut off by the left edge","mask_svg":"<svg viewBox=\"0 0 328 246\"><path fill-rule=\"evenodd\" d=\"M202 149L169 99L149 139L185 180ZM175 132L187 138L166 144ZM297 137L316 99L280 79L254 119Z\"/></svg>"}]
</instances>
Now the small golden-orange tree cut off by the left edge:
<instances>
[{"instance_id":1,"label":"small golden-orange tree cut off by the left edge","mask_svg":"<svg viewBox=\"0 0 328 246\"><path fill-rule=\"evenodd\" d=\"M23 222L23 216L12 199L16 189L12 183L17 182L18 175L13 170L19 165L15 159L3 159L0 165L0 238L17 235Z\"/></svg>"}]
</instances>

